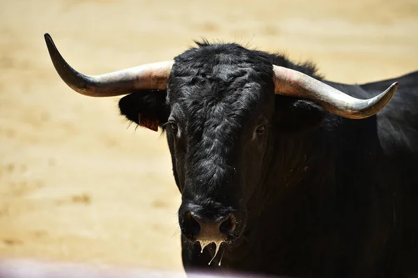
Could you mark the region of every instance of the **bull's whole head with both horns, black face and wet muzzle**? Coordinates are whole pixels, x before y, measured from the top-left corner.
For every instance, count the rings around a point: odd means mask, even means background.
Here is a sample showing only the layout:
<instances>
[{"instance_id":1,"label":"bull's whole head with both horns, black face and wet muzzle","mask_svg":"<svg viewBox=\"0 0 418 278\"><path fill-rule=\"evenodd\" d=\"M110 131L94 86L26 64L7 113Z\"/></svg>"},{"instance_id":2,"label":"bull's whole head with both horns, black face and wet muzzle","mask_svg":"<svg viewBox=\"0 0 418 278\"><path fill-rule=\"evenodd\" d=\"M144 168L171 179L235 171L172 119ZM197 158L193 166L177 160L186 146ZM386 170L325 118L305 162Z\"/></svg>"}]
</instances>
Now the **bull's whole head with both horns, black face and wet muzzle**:
<instances>
[{"instance_id":1,"label":"bull's whole head with both horns, black face and wet muzzle","mask_svg":"<svg viewBox=\"0 0 418 278\"><path fill-rule=\"evenodd\" d=\"M366 118L385 107L397 87L359 100L235 44L203 44L174 61L86 76L64 61L49 35L45 40L56 71L73 90L93 97L127 95L119 103L122 114L136 123L139 114L157 120L166 130L183 198L180 228L200 242L233 241L244 231L248 201L257 198L279 135L275 95Z\"/></svg>"}]
</instances>

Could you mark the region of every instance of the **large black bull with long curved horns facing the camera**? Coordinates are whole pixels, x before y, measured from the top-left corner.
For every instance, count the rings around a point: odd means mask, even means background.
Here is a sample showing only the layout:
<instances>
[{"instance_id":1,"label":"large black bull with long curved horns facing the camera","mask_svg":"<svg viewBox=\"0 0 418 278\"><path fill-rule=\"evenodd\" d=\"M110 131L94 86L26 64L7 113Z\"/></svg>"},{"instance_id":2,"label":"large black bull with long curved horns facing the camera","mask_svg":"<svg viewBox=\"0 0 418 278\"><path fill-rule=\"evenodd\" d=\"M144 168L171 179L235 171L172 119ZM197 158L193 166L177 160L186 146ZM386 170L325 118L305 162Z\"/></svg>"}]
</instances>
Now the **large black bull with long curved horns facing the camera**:
<instances>
[{"instance_id":1,"label":"large black bull with long curved horns facing the camera","mask_svg":"<svg viewBox=\"0 0 418 278\"><path fill-rule=\"evenodd\" d=\"M121 114L166 132L182 193L186 270L369 278L418 273L418 72L339 84L309 63L203 42L177 56L172 68L100 79L73 70L45 38L71 88L91 96L125 94ZM335 109L334 93L327 105L324 96L301 97L302 89L294 89L299 79L287 73L280 77L285 82L276 82L272 66L362 100L395 81L399 88L389 103L370 104L372 114L355 116L352 108ZM283 95L286 89L291 93Z\"/></svg>"}]
</instances>

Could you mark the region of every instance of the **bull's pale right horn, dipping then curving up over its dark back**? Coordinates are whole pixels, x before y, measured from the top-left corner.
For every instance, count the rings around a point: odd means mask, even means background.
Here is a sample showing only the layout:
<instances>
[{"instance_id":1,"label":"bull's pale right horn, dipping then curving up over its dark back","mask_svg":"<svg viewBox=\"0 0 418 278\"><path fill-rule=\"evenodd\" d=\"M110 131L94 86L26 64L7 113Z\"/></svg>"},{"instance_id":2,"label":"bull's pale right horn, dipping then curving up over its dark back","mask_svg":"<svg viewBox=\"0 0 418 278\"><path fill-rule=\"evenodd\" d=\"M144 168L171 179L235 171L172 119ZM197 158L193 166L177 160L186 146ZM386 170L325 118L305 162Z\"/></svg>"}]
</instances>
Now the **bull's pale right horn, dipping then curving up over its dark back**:
<instances>
[{"instance_id":1,"label":"bull's pale right horn, dipping then curving up over its dark back","mask_svg":"<svg viewBox=\"0 0 418 278\"><path fill-rule=\"evenodd\" d=\"M274 93L278 95L307 98L345 118L367 118L378 113L394 95L398 82L395 82L380 95L367 100L353 98L336 88L332 88L302 72L273 65Z\"/></svg>"}]
</instances>

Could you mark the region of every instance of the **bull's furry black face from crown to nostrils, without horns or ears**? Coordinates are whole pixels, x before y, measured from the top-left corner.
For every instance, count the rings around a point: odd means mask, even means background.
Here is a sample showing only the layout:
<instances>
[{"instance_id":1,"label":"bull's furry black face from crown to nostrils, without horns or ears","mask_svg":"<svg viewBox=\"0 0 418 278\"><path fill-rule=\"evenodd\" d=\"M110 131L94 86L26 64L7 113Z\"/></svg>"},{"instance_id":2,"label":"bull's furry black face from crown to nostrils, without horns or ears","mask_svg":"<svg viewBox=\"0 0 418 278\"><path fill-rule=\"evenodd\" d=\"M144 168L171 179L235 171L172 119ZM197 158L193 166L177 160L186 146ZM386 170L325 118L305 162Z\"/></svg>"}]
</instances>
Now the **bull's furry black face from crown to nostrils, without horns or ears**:
<instances>
[{"instance_id":1,"label":"bull's furry black face from crown to nostrils, without horns or ears","mask_svg":"<svg viewBox=\"0 0 418 278\"><path fill-rule=\"evenodd\" d=\"M185 223L191 210L209 219L233 213L236 228L226 240L238 238L268 168L272 65L246 52L237 45L192 49L176 57L171 72L167 140L182 193L180 228L189 240L196 239Z\"/></svg>"}]
</instances>

